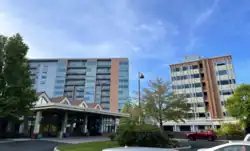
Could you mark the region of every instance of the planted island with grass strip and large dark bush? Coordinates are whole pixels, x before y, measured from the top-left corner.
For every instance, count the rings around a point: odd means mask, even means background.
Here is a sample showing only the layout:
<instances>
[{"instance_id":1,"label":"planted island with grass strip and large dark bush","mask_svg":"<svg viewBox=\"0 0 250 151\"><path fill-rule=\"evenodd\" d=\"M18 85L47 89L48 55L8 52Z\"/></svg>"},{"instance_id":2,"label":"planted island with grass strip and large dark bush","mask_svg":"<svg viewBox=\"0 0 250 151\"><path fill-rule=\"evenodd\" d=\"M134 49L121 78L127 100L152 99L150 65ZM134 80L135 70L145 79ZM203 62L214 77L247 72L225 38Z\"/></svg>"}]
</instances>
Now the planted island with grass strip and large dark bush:
<instances>
[{"instance_id":1,"label":"planted island with grass strip and large dark bush","mask_svg":"<svg viewBox=\"0 0 250 151\"><path fill-rule=\"evenodd\" d=\"M156 148L187 147L188 144L173 140L167 134L152 125L127 125L120 127L118 134L110 134L110 141L88 142L81 144L68 144L59 146L60 151L102 151L106 148L137 146Z\"/></svg>"}]
</instances>

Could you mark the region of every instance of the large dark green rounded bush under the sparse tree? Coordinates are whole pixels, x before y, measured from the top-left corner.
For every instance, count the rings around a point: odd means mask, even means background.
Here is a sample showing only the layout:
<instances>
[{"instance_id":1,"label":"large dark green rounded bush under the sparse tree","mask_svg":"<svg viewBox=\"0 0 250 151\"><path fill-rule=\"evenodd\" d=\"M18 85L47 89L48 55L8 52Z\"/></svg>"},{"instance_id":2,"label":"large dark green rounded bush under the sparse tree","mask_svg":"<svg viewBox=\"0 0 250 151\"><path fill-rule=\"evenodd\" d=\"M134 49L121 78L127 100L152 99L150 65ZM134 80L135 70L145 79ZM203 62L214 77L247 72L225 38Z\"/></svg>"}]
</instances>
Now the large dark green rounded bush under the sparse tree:
<instances>
[{"instance_id":1,"label":"large dark green rounded bush under the sparse tree","mask_svg":"<svg viewBox=\"0 0 250 151\"><path fill-rule=\"evenodd\" d=\"M122 127L117 139L121 146L167 147L170 140L157 126L142 124Z\"/></svg>"}]
</instances>

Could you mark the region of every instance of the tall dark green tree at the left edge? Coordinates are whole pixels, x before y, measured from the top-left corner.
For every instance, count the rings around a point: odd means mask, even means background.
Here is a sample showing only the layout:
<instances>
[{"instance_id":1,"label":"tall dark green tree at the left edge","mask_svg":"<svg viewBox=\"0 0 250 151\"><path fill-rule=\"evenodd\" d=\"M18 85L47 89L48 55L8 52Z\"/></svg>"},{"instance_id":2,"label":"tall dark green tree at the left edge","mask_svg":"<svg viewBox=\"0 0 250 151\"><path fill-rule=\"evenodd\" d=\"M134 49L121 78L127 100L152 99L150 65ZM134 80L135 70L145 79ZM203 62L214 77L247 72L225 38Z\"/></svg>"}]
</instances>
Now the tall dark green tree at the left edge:
<instances>
[{"instance_id":1,"label":"tall dark green tree at the left edge","mask_svg":"<svg viewBox=\"0 0 250 151\"><path fill-rule=\"evenodd\" d=\"M1 116L28 115L37 100L26 59L28 49L19 34L9 38L0 36Z\"/></svg>"}]
</instances>

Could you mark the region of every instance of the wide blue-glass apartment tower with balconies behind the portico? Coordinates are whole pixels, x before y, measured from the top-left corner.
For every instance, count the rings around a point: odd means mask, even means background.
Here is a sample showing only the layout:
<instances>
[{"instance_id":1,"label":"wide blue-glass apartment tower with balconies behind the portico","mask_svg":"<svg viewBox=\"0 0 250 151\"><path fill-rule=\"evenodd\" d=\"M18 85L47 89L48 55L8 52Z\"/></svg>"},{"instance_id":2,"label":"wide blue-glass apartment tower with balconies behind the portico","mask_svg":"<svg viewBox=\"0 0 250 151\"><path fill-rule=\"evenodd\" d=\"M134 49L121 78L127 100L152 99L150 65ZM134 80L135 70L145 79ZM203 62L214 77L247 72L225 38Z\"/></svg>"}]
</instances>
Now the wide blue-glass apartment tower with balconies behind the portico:
<instances>
[{"instance_id":1,"label":"wide blue-glass apartment tower with balconies behind the portico","mask_svg":"<svg viewBox=\"0 0 250 151\"><path fill-rule=\"evenodd\" d=\"M34 88L49 97L98 102L112 112L120 111L128 100L127 58L30 59L29 65Z\"/></svg>"}]
</instances>

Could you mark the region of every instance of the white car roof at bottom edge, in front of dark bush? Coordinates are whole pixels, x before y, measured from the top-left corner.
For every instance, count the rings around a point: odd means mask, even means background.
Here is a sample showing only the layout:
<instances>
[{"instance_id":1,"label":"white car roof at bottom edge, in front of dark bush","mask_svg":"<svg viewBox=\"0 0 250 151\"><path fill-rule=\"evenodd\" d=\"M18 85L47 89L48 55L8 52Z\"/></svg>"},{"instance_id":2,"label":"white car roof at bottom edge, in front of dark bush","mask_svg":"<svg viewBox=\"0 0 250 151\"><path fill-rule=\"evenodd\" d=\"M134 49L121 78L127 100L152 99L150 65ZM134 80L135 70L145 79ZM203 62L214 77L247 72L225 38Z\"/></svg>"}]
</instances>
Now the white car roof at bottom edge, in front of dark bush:
<instances>
[{"instance_id":1,"label":"white car roof at bottom edge, in front of dark bush","mask_svg":"<svg viewBox=\"0 0 250 151\"><path fill-rule=\"evenodd\" d=\"M151 147L116 147L103 149L102 151L178 151L171 148L151 148Z\"/></svg>"}]
</instances>

